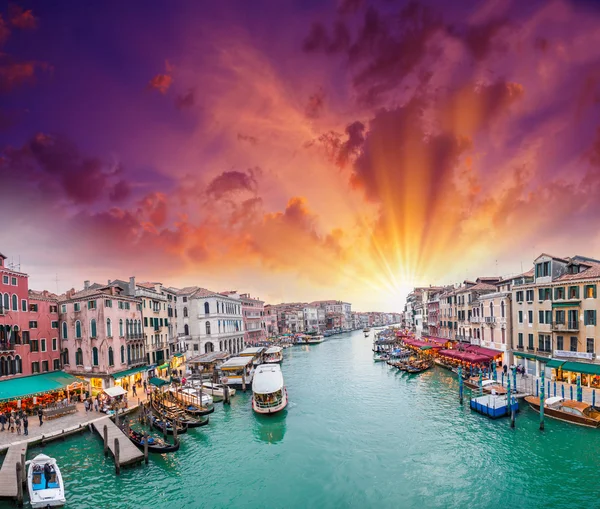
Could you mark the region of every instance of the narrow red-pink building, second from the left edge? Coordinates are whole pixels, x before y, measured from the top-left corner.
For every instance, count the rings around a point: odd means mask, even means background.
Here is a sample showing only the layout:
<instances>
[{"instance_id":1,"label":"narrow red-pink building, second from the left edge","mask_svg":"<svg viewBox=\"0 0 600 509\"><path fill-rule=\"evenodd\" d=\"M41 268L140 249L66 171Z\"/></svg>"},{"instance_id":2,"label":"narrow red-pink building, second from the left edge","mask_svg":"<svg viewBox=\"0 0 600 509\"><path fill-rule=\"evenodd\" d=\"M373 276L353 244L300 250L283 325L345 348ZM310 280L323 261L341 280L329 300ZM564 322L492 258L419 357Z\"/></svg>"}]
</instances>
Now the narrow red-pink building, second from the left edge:
<instances>
[{"instance_id":1,"label":"narrow red-pink building, second from the left edge","mask_svg":"<svg viewBox=\"0 0 600 509\"><path fill-rule=\"evenodd\" d=\"M31 373L62 369L57 295L29 290L29 336Z\"/></svg>"}]
</instances>

